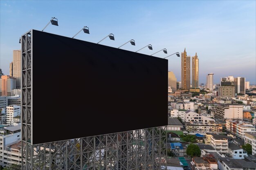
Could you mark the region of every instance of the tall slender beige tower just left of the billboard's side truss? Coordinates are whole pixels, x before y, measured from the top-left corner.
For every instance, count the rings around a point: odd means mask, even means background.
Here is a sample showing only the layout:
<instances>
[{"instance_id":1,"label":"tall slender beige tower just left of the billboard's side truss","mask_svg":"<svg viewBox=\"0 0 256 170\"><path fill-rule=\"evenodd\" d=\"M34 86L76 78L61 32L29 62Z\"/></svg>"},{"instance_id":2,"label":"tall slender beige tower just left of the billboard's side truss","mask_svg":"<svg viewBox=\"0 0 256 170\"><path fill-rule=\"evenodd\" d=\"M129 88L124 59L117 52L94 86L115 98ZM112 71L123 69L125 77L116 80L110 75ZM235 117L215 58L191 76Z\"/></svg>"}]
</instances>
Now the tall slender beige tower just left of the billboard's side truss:
<instances>
[{"instance_id":1,"label":"tall slender beige tower just left of the billboard's side truss","mask_svg":"<svg viewBox=\"0 0 256 170\"><path fill-rule=\"evenodd\" d=\"M13 50L13 77L16 78L16 87L20 88L20 50Z\"/></svg>"}]
</instances>

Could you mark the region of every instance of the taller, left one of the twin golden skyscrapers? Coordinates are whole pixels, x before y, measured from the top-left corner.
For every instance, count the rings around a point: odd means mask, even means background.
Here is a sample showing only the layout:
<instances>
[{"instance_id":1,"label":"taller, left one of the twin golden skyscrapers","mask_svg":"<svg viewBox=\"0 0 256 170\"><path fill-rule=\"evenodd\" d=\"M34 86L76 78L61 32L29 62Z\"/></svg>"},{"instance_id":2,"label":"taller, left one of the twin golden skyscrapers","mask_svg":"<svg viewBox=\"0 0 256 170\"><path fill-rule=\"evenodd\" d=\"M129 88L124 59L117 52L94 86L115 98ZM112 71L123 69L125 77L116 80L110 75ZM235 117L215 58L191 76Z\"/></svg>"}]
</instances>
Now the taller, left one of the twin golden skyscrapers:
<instances>
[{"instance_id":1,"label":"taller, left one of the twin golden skyscrapers","mask_svg":"<svg viewBox=\"0 0 256 170\"><path fill-rule=\"evenodd\" d=\"M181 88L190 88L190 56L186 55L186 48L181 53Z\"/></svg>"}]
</instances>

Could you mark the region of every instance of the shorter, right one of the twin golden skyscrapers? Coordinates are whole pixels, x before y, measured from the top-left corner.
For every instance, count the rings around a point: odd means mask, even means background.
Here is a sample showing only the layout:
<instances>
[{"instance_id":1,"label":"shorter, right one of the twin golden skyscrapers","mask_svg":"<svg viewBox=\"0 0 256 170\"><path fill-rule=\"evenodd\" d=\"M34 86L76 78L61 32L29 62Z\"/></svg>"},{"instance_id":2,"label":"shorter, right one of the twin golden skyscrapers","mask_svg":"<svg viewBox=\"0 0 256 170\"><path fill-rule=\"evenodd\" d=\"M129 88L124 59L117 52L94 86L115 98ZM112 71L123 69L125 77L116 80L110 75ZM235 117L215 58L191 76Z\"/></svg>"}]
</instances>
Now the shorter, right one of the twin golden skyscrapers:
<instances>
[{"instance_id":1,"label":"shorter, right one of the twin golden skyscrapers","mask_svg":"<svg viewBox=\"0 0 256 170\"><path fill-rule=\"evenodd\" d=\"M199 87L199 59L196 53L192 57L192 87Z\"/></svg>"}]
</instances>

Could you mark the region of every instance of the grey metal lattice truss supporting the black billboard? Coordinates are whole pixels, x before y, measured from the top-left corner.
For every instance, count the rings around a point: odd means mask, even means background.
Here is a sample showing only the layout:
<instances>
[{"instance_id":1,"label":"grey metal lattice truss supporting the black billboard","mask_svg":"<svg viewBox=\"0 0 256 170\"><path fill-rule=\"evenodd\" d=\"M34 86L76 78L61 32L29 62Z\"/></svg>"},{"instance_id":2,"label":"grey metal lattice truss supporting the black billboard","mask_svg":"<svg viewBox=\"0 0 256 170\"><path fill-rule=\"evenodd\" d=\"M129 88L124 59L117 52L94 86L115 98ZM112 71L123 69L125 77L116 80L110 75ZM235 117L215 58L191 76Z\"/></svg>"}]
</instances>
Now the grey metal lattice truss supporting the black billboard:
<instances>
[{"instance_id":1,"label":"grey metal lattice truss supporting the black billboard","mask_svg":"<svg viewBox=\"0 0 256 170\"><path fill-rule=\"evenodd\" d=\"M166 169L166 126L31 144L32 31L22 35L23 170Z\"/></svg>"}]
</instances>

